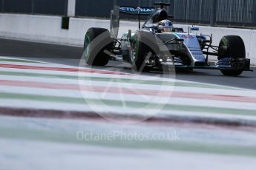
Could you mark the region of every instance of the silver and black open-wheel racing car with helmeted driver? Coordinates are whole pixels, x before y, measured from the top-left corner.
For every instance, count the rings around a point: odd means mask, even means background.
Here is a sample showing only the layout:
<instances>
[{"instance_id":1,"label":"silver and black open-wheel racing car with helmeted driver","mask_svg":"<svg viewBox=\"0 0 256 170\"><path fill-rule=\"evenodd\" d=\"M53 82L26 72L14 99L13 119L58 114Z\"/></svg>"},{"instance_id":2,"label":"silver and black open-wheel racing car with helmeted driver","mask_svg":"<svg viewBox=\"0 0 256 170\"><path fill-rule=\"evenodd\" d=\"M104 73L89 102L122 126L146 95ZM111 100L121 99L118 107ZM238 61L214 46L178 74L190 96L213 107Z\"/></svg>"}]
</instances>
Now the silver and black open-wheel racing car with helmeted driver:
<instances>
[{"instance_id":1,"label":"silver and black open-wheel racing car with helmeted driver","mask_svg":"<svg viewBox=\"0 0 256 170\"><path fill-rule=\"evenodd\" d=\"M212 35L191 33L174 27L164 7L168 3L155 3L156 7L119 7L111 10L110 30L92 27L85 35L85 62L91 66L105 66L109 60L128 62L137 72L152 69L219 69L223 75L237 76L250 70L243 39L226 35L218 46L212 45ZM139 29L128 30L118 38L120 13L137 15ZM140 27L141 16L148 19ZM217 57L210 65L209 55Z\"/></svg>"}]
</instances>

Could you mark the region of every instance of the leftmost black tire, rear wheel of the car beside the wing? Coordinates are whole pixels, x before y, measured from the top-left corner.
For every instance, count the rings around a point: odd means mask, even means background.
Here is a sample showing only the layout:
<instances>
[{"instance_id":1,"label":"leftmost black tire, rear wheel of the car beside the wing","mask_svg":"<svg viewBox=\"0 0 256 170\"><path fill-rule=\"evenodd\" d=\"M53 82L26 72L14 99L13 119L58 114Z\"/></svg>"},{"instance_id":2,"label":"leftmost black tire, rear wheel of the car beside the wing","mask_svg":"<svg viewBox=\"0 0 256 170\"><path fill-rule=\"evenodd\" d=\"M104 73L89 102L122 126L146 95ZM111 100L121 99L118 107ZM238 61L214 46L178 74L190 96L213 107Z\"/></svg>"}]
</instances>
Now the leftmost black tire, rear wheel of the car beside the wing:
<instances>
[{"instance_id":1,"label":"leftmost black tire, rear wheel of the car beside the wing","mask_svg":"<svg viewBox=\"0 0 256 170\"><path fill-rule=\"evenodd\" d=\"M104 28L90 28L85 35L84 55L85 62L91 66L105 66L109 61L109 54L107 54L113 41L111 40L111 33ZM106 53L107 50L108 52Z\"/></svg>"}]
</instances>

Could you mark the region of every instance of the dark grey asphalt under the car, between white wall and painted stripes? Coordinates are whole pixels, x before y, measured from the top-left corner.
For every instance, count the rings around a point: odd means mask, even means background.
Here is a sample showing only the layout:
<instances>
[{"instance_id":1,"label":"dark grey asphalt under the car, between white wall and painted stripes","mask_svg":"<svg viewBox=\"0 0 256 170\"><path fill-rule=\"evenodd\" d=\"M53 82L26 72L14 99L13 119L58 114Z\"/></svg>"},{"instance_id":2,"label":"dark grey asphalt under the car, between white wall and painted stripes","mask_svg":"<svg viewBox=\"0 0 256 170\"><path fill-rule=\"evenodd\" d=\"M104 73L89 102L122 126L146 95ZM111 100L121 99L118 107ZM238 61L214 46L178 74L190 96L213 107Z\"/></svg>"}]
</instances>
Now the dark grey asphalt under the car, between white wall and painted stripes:
<instances>
[{"instance_id":1,"label":"dark grey asphalt under the car, between white wall and painted stripes","mask_svg":"<svg viewBox=\"0 0 256 170\"><path fill-rule=\"evenodd\" d=\"M61 62L59 58L76 59L67 65L79 65L79 59L82 58L82 47L72 47L58 44L45 44L28 41L16 41L0 39L0 55L24 57L24 58L45 58L54 62ZM119 63L111 61L108 67L122 67ZM104 67L100 68L104 69ZM239 77L226 77L218 70L197 69L194 72L177 72L176 78L185 81L195 81L206 84L218 84L224 86L234 86L245 89L256 89L256 69L254 72L243 72ZM126 64L123 69L125 72L131 72ZM154 76L154 73L145 73Z\"/></svg>"}]
</instances>

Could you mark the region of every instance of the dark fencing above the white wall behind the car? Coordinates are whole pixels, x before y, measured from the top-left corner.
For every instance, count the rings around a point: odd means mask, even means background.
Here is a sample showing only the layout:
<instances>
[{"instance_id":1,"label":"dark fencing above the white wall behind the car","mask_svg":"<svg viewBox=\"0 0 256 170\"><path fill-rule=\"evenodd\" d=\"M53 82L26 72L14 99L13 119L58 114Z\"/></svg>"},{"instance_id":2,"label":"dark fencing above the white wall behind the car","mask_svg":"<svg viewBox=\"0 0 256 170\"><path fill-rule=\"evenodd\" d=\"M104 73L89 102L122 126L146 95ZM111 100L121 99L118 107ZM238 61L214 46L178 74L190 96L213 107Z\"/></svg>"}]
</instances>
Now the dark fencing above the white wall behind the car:
<instances>
[{"instance_id":1,"label":"dark fencing above the white wall behind the car","mask_svg":"<svg viewBox=\"0 0 256 170\"><path fill-rule=\"evenodd\" d=\"M154 7L158 0L76 0L77 17L110 18L113 5ZM174 21L235 27L256 26L254 0L163 0L171 3L168 13ZM1 13L27 13L66 16L68 0L0 0ZM132 16L125 16L125 18Z\"/></svg>"}]
</instances>

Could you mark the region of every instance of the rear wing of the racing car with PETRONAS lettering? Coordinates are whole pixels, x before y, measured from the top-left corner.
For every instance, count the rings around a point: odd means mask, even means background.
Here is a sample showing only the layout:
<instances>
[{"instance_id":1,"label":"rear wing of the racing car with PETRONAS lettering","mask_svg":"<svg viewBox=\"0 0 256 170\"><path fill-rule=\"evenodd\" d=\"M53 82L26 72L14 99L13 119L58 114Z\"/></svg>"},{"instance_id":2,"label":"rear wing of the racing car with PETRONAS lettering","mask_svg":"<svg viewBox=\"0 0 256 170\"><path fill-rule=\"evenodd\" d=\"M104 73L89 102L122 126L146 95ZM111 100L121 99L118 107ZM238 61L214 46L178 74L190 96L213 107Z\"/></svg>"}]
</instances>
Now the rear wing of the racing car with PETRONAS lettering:
<instances>
[{"instance_id":1,"label":"rear wing of the racing car with PETRONAS lettering","mask_svg":"<svg viewBox=\"0 0 256 170\"><path fill-rule=\"evenodd\" d=\"M149 16L155 10L154 7L119 7L115 5L114 9L111 10L111 36L114 38L117 38L118 36L120 13L138 16L140 28L140 16Z\"/></svg>"}]
</instances>

